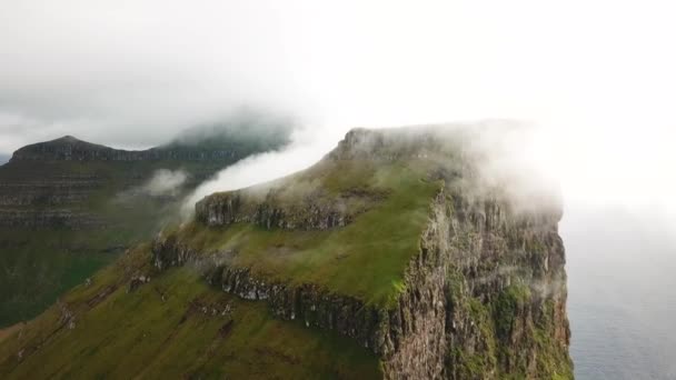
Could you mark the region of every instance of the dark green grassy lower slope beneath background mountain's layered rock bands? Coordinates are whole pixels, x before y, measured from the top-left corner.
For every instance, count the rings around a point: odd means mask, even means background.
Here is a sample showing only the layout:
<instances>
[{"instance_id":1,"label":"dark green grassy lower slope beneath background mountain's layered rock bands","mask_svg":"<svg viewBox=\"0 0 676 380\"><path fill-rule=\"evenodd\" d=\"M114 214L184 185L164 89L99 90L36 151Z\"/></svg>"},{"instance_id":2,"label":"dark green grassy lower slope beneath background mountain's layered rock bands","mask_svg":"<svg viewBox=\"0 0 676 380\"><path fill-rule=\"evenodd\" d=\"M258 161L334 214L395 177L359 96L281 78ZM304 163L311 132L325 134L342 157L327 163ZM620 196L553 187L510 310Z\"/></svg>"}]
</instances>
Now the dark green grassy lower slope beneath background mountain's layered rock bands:
<instances>
[{"instance_id":1,"label":"dark green grassy lower slope beneath background mountain's layered rock bands","mask_svg":"<svg viewBox=\"0 0 676 380\"><path fill-rule=\"evenodd\" d=\"M0 229L0 327L33 318L57 297L111 262L126 247L149 240L172 204L112 202L96 210L107 228Z\"/></svg>"}]
</instances>

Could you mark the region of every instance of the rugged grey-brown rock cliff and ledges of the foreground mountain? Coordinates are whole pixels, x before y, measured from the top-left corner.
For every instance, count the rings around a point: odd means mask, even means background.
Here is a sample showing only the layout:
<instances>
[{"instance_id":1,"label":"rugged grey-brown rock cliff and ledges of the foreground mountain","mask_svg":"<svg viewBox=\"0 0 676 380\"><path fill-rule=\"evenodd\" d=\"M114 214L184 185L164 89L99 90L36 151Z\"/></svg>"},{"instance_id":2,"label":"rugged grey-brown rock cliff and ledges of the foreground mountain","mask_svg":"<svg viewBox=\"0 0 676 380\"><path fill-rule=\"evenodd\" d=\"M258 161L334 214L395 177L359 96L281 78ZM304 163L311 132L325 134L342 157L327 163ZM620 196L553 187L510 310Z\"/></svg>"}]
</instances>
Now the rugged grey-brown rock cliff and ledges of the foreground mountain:
<instances>
[{"instance_id":1,"label":"rugged grey-brown rock cliff and ledges of the foreground mountain","mask_svg":"<svg viewBox=\"0 0 676 380\"><path fill-rule=\"evenodd\" d=\"M228 260L235 252L199 251L176 234L156 239L153 263L160 270L195 266L210 284L265 301L278 318L349 337L381 358L386 378L571 378L560 206L519 207L499 187L485 184L473 161L479 156L470 150L463 162L438 166L464 138L448 143L436 131L355 130L325 159L422 159L434 162L427 174L444 181L395 302L371 304L314 283L270 280ZM197 219L311 230L359 218L324 202L306 202L302 212L276 204L242 200L238 192L212 196L198 203Z\"/></svg>"}]
</instances>

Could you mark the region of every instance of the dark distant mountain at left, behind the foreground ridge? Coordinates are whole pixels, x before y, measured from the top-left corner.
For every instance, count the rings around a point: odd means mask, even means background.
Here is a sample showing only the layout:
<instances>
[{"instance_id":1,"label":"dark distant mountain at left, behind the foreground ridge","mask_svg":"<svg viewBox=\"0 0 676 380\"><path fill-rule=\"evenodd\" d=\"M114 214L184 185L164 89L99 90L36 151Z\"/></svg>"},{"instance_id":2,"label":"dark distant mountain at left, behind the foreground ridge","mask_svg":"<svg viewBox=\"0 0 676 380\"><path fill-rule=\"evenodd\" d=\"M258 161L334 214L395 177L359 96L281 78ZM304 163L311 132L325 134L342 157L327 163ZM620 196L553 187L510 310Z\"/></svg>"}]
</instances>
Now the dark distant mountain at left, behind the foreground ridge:
<instances>
[{"instance_id":1,"label":"dark distant mountain at left, behind the foreground ridge","mask_svg":"<svg viewBox=\"0 0 676 380\"><path fill-rule=\"evenodd\" d=\"M0 327L57 297L178 217L182 198L220 169L288 143L233 136L148 150L66 136L17 150L0 167Z\"/></svg>"}]
</instances>

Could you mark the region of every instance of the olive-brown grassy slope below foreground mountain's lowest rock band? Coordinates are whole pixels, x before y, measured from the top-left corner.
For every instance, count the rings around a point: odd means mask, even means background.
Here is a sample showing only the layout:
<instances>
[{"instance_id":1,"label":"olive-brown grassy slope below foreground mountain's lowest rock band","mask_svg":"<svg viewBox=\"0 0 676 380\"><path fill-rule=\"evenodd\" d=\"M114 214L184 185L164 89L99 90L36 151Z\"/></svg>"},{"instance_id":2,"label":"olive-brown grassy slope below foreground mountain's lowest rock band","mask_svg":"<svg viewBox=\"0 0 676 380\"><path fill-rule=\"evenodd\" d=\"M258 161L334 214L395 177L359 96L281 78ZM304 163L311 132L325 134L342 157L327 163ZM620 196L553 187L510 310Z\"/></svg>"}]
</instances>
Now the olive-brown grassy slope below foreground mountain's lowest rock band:
<instances>
[{"instance_id":1,"label":"olive-brown grassy slope below foreground mountain's lowest rock band","mask_svg":"<svg viewBox=\"0 0 676 380\"><path fill-rule=\"evenodd\" d=\"M149 252L141 249L100 271L90 287L66 294L63 302L76 313L74 329L58 329L60 312L52 307L1 341L0 377L381 377L378 359L356 342L276 320L265 302L242 301L215 290L188 268L168 270L127 292L120 281L123 273L147 270L148 264ZM87 304L110 284L118 288L105 301ZM221 314L223 310L229 311Z\"/></svg>"}]
</instances>

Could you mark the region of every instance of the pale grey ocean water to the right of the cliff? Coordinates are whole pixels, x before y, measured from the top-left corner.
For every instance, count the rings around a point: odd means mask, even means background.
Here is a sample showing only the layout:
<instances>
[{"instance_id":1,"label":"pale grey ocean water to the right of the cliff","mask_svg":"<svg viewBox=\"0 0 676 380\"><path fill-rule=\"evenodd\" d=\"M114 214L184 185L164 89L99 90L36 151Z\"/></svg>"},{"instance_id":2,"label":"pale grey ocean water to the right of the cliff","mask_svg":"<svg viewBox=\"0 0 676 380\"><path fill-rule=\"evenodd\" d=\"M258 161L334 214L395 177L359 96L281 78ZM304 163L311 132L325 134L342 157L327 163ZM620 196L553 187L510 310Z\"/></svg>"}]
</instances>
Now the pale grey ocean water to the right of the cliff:
<instances>
[{"instance_id":1,"label":"pale grey ocean water to the right of the cliff","mask_svg":"<svg viewBox=\"0 0 676 380\"><path fill-rule=\"evenodd\" d=\"M649 212L567 208L577 379L676 379L676 239Z\"/></svg>"}]
</instances>

